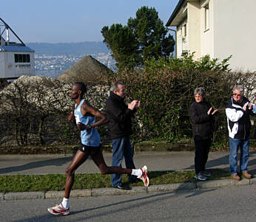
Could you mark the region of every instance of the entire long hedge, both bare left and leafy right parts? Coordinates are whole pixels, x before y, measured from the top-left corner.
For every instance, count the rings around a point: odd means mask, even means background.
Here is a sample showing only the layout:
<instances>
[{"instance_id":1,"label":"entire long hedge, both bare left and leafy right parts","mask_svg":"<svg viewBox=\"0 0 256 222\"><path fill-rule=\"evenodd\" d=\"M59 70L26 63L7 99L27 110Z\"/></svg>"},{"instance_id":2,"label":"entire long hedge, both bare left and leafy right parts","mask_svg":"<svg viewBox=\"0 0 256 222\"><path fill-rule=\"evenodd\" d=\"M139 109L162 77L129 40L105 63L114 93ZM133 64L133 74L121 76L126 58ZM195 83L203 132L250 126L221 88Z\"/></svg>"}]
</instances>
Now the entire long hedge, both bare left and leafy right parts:
<instances>
[{"instance_id":1,"label":"entire long hedge, both bare left and leafy right parts","mask_svg":"<svg viewBox=\"0 0 256 222\"><path fill-rule=\"evenodd\" d=\"M133 142L176 142L192 136L189 106L198 86L206 89L206 100L218 108L214 144L226 146L226 103L235 84L246 86L246 97L255 97L255 72L230 72L229 58L218 61L205 56L148 60L143 69L101 75L101 84L87 83L87 100L104 111L112 82L127 86L127 103L141 100L133 122ZM83 81L83 79L79 79ZM75 81L75 80L74 80ZM75 125L67 123L73 109L70 83L47 77L20 77L0 92L0 145L15 138L18 145L78 142ZM98 128L107 139L107 125Z\"/></svg>"}]
</instances>

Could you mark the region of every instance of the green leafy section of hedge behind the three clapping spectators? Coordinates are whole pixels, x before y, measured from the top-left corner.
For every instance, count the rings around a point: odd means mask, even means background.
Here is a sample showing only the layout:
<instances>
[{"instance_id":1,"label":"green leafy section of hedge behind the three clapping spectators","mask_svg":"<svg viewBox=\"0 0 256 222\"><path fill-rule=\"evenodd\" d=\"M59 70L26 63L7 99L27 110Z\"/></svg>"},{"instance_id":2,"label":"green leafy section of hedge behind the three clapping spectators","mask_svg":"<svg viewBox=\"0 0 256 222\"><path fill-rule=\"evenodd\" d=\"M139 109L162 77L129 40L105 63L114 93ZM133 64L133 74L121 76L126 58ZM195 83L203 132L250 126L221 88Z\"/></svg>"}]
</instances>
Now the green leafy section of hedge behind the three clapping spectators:
<instances>
[{"instance_id":1,"label":"green leafy section of hedge behind the three clapping spectators","mask_svg":"<svg viewBox=\"0 0 256 222\"><path fill-rule=\"evenodd\" d=\"M124 82L127 103L141 100L133 124L133 139L175 142L192 136L189 106L194 101L194 89L202 86L206 89L206 100L219 110L214 139L223 141L227 135L225 107L233 86L242 83L247 86L247 94L252 95L255 81L255 73L246 73L244 77L230 72L228 61L229 58L211 60L208 55L200 60L193 60L192 55L152 59L144 69L118 72L106 78L109 83Z\"/></svg>"}]
</instances>

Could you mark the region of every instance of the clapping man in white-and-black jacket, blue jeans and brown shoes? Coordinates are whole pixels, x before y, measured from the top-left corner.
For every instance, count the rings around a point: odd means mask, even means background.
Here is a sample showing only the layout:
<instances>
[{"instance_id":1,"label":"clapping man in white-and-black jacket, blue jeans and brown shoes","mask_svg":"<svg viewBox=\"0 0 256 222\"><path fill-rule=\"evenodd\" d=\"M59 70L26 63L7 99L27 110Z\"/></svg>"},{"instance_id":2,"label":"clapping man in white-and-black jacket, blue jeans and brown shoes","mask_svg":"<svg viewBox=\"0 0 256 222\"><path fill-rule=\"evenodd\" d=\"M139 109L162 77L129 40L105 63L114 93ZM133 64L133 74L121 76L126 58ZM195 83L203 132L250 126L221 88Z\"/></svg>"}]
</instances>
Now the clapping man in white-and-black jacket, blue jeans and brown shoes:
<instances>
[{"instance_id":1,"label":"clapping man in white-and-black jacket, blue jeans and brown shoes","mask_svg":"<svg viewBox=\"0 0 256 222\"><path fill-rule=\"evenodd\" d=\"M248 173L249 162L249 135L251 121L249 115L253 115L253 101L243 97L243 86L235 86L233 95L226 105L226 117L229 129L229 165L232 178L240 180L238 176L238 148L240 147L240 171L246 178L252 178Z\"/></svg>"}]
</instances>

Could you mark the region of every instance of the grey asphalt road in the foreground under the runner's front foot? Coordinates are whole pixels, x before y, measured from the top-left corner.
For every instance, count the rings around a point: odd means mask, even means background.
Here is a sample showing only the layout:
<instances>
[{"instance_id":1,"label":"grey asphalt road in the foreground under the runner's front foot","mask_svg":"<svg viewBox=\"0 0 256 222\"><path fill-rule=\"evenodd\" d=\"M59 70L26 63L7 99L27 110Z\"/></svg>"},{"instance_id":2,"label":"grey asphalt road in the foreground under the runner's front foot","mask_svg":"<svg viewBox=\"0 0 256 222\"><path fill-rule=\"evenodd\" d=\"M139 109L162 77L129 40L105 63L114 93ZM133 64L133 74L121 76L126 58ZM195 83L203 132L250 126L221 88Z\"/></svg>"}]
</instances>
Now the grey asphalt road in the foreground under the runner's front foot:
<instances>
[{"instance_id":1,"label":"grey asphalt road in the foreground under the runner's front foot","mask_svg":"<svg viewBox=\"0 0 256 222\"><path fill-rule=\"evenodd\" d=\"M246 221L256 220L256 184L70 199L70 215L50 215L60 199L1 201L0 221Z\"/></svg>"}]
</instances>

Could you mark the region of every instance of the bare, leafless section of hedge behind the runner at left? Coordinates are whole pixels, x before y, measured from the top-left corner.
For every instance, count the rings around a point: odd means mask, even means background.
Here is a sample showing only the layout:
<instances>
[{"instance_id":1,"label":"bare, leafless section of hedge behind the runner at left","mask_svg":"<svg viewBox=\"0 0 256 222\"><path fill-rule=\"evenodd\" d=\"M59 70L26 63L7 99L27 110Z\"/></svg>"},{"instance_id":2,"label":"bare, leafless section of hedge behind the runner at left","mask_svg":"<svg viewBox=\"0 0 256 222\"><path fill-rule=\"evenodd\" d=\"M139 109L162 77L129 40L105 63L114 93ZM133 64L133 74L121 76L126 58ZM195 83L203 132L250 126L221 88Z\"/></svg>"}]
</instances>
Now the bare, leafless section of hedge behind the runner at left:
<instances>
[{"instance_id":1,"label":"bare, leafless section of hedge behind the runner at left","mask_svg":"<svg viewBox=\"0 0 256 222\"><path fill-rule=\"evenodd\" d=\"M90 84L87 100L102 110L107 89L106 86ZM74 107L69 91L70 83L38 76L21 76L1 90L0 145L78 142L77 128L67 123L67 115ZM106 135L106 128L100 131Z\"/></svg>"}]
</instances>

